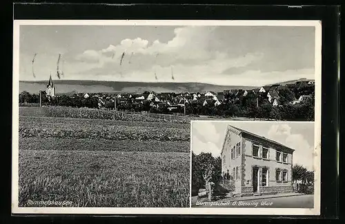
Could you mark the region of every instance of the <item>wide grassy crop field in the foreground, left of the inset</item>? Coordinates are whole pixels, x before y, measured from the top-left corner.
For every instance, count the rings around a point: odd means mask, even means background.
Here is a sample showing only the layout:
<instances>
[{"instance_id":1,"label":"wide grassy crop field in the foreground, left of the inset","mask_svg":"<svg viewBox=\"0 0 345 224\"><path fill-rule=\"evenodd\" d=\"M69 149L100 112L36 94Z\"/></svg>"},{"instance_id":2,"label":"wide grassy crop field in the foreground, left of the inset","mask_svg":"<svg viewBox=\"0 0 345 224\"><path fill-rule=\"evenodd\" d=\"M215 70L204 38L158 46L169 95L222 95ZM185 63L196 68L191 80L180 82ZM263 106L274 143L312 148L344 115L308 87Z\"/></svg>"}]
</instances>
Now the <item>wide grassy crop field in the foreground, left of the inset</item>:
<instances>
[{"instance_id":1,"label":"wide grassy crop field in the foreground, left of the inset","mask_svg":"<svg viewBox=\"0 0 345 224\"><path fill-rule=\"evenodd\" d=\"M19 108L20 207L28 200L189 207L189 124L48 117L42 108L27 109Z\"/></svg>"}]
</instances>

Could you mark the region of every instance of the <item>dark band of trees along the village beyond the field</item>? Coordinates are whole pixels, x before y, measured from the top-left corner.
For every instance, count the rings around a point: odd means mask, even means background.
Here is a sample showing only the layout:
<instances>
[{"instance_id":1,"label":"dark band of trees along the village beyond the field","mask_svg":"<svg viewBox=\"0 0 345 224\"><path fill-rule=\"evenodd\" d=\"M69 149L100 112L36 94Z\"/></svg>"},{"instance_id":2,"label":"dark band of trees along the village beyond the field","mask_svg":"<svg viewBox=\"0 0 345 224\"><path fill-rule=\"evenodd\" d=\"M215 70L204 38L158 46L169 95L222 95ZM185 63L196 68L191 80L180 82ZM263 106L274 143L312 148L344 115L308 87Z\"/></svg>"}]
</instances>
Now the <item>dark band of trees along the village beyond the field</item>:
<instances>
[{"instance_id":1,"label":"dark band of trees along the village beyond the field","mask_svg":"<svg viewBox=\"0 0 345 224\"><path fill-rule=\"evenodd\" d=\"M291 104L293 100L302 95L311 95L311 100L302 101L298 104ZM30 94L23 91L19 94L19 103L39 103L38 94ZM279 106L273 107L271 102L268 102L266 93L257 93L255 95L248 94L247 96L233 96L225 94L224 102L217 107L213 104L204 104L204 101L190 101L184 107L177 107L176 109L168 109L168 104L156 104L152 107L152 102L149 100L142 100L137 102L135 100L126 100L120 102L117 99L117 110L119 111L133 111L141 112L147 111L150 113L185 113L186 115L208 115L218 117L250 117L267 120L294 120L294 121L313 121L315 115L314 107L314 92L313 87L306 86L303 88L281 89L279 90ZM99 100L97 98L83 98L62 95L59 98L47 98L46 94L42 94L42 103L51 106L65 106L65 107L87 107L99 108ZM111 100L104 100L101 107L106 109L115 109L115 102Z\"/></svg>"}]
</instances>

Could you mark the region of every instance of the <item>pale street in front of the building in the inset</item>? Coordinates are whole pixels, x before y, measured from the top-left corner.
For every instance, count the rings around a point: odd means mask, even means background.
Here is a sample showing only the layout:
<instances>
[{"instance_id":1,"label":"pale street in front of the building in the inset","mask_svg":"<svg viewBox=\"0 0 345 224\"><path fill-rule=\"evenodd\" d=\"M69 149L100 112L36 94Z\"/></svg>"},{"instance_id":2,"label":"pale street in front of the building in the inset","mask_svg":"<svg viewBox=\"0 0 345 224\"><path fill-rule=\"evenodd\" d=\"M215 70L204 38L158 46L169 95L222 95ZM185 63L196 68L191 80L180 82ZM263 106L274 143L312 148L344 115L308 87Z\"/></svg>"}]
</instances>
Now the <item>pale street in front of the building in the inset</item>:
<instances>
[{"instance_id":1,"label":"pale street in front of the building in the inset","mask_svg":"<svg viewBox=\"0 0 345 224\"><path fill-rule=\"evenodd\" d=\"M238 201L230 201L228 203L226 199L223 199L218 205L192 205L192 207L214 207L214 208L313 208L314 207L314 195L306 194L290 197L275 197L270 199L255 199L244 200L238 199ZM217 203L217 201L214 201Z\"/></svg>"}]
</instances>

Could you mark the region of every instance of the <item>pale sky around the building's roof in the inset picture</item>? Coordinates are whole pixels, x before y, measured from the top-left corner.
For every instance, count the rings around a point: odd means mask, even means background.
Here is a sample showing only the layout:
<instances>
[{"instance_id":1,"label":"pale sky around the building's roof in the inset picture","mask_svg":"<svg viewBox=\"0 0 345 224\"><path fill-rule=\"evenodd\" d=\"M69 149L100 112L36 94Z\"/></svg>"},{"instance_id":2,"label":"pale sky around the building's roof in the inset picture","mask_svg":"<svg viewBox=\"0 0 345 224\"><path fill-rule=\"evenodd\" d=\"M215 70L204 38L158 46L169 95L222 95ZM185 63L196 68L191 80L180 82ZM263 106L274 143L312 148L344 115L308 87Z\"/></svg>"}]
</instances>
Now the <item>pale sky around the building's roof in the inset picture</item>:
<instances>
[{"instance_id":1,"label":"pale sky around the building's roof in the inset picture","mask_svg":"<svg viewBox=\"0 0 345 224\"><path fill-rule=\"evenodd\" d=\"M293 164L313 170L314 122L192 122L192 150L218 157L228 125L295 149Z\"/></svg>"}]
</instances>

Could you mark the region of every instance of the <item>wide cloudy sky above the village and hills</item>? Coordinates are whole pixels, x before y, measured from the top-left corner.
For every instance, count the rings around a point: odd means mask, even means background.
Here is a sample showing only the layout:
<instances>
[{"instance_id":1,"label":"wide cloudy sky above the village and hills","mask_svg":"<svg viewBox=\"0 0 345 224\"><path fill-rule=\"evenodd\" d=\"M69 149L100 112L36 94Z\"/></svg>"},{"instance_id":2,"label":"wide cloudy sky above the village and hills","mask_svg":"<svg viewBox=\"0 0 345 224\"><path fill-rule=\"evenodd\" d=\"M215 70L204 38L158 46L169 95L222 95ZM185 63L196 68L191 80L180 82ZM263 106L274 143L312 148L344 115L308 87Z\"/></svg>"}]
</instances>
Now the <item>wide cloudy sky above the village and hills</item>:
<instances>
[{"instance_id":1,"label":"wide cloudy sky above the village and hills","mask_svg":"<svg viewBox=\"0 0 345 224\"><path fill-rule=\"evenodd\" d=\"M259 86L314 78L315 27L21 25L19 39L20 80L57 79L59 54L65 80Z\"/></svg>"}]
</instances>

